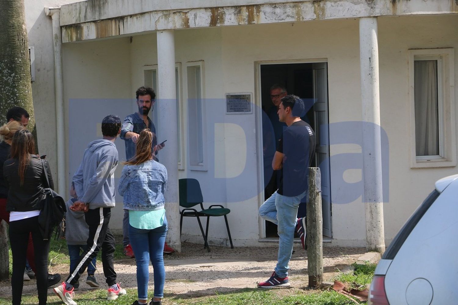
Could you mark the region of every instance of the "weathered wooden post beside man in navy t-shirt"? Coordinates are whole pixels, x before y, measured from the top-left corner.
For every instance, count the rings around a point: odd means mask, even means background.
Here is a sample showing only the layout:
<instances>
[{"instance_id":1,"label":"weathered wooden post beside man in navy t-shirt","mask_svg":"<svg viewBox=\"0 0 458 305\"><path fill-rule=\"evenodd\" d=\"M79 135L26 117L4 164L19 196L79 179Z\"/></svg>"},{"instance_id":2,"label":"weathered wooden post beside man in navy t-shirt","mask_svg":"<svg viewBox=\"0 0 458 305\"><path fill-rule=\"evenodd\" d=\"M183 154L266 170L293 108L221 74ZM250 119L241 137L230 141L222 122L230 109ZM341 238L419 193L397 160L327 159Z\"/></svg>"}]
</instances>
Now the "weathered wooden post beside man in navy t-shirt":
<instances>
[{"instance_id":1,"label":"weathered wooden post beside man in navy t-shirt","mask_svg":"<svg viewBox=\"0 0 458 305\"><path fill-rule=\"evenodd\" d=\"M307 260L309 287L323 282L323 212L321 204L321 171L309 168L309 202L307 203Z\"/></svg>"}]
</instances>

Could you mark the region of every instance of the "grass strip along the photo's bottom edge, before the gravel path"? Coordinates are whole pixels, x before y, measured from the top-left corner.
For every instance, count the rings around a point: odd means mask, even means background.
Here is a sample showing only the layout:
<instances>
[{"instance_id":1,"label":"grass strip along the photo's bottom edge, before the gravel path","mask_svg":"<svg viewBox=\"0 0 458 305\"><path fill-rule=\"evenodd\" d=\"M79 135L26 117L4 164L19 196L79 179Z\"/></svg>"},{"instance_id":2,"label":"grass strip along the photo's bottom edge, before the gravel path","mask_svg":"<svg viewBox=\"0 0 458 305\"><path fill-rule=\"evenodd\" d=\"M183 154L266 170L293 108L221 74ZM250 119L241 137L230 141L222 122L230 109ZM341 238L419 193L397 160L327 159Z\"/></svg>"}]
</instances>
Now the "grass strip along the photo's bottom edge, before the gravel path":
<instances>
[{"instance_id":1,"label":"grass strip along the photo's bottom edge, before the gravel path","mask_svg":"<svg viewBox=\"0 0 458 305\"><path fill-rule=\"evenodd\" d=\"M115 301L107 300L107 290L98 289L86 294L76 293L74 300L79 305L131 305L137 297L136 289L126 289L127 295L119 297ZM216 296L182 298L173 294L165 294L163 304L193 304L193 305L354 305L354 302L334 291L304 292L297 289L291 290L294 295L277 294L275 291L260 289L242 289L238 292L217 294ZM284 292L283 290L282 292ZM294 292L294 293L293 293ZM150 293L152 298L153 292ZM38 299L33 295L23 295L24 305L37 304ZM0 305L11 304L11 300L0 298ZM61 305L62 301L55 295L48 295L49 305Z\"/></svg>"}]
</instances>

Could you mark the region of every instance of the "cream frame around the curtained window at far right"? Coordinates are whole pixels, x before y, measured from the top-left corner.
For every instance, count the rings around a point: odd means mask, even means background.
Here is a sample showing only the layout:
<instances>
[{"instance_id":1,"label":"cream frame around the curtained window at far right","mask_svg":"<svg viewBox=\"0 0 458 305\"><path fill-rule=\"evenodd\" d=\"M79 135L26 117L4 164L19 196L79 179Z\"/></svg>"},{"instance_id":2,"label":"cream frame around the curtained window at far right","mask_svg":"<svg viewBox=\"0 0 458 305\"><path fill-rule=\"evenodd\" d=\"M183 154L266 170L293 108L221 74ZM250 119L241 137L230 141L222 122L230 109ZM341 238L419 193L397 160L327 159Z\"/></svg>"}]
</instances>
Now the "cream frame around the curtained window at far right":
<instances>
[{"instance_id":1,"label":"cream frame around the curtained window at far right","mask_svg":"<svg viewBox=\"0 0 458 305\"><path fill-rule=\"evenodd\" d=\"M414 62L417 60L437 60L439 155L416 155ZM456 166L454 49L410 49L408 51L408 64L410 104L410 167L419 168Z\"/></svg>"}]
</instances>

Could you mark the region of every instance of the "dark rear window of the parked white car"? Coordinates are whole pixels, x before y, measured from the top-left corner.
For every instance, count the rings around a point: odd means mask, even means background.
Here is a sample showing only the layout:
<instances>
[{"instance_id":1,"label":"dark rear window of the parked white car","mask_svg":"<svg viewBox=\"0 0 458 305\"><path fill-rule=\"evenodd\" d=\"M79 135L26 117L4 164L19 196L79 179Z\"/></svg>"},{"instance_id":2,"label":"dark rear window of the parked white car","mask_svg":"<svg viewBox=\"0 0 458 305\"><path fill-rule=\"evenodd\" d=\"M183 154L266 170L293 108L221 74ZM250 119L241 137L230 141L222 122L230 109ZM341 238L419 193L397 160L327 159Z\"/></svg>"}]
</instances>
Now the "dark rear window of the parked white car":
<instances>
[{"instance_id":1,"label":"dark rear window of the parked white car","mask_svg":"<svg viewBox=\"0 0 458 305\"><path fill-rule=\"evenodd\" d=\"M423 217L425 212L431 207L431 204L437 199L437 197L439 197L440 194L441 193L434 190L428 195L428 197L426 197L425 201L421 203L418 209L415 210L414 214L412 214L409 220L407 220L407 222L403 225L401 230L399 230L396 237L394 237L390 246L388 246L387 251L383 254L382 259L394 259L399 251L399 248L403 245L410 232L414 230L415 225L417 225L418 221Z\"/></svg>"}]
</instances>

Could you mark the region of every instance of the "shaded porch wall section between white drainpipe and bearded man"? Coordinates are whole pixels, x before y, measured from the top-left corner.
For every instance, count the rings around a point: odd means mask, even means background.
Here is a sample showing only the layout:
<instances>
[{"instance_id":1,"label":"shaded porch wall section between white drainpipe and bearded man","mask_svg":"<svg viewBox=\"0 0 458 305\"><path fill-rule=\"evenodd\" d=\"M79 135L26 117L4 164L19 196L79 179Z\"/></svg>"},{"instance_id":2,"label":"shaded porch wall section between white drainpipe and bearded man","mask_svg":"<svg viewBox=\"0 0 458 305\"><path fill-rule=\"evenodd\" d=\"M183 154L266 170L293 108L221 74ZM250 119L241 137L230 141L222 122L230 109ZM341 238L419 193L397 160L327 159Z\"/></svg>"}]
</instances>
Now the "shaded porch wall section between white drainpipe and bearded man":
<instances>
[{"instance_id":1,"label":"shaded porch wall section between white drainpipe and bearded man","mask_svg":"<svg viewBox=\"0 0 458 305\"><path fill-rule=\"evenodd\" d=\"M102 119L113 113L122 120L132 113L130 42L129 38L120 38L66 44L62 54L67 179L70 182L87 144L102 138ZM125 161L124 141L116 139L115 144L120 162ZM110 219L110 228L117 233L121 233L124 214L122 197L117 190L122 167L119 163L114 175L116 207Z\"/></svg>"}]
</instances>

